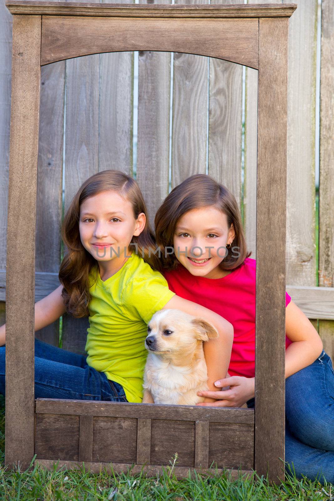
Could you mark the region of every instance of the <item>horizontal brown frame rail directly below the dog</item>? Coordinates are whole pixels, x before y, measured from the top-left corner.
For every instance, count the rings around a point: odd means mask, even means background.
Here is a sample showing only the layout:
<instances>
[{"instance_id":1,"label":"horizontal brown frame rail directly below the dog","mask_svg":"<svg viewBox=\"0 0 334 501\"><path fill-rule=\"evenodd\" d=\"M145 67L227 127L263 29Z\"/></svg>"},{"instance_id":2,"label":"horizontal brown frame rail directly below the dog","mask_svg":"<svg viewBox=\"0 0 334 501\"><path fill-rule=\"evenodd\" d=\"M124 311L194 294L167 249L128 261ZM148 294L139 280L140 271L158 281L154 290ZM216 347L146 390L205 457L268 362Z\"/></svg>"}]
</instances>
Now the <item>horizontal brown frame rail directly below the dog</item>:
<instances>
[{"instance_id":1,"label":"horizontal brown frame rail directly below the dog","mask_svg":"<svg viewBox=\"0 0 334 501\"><path fill-rule=\"evenodd\" d=\"M37 398L36 412L141 419L177 419L178 421L215 421L254 424L254 409L157 405L88 400Z\"/></svg>"}]
</instances>

